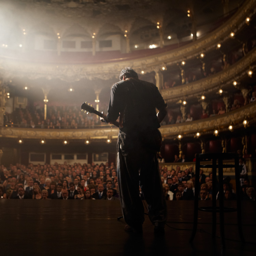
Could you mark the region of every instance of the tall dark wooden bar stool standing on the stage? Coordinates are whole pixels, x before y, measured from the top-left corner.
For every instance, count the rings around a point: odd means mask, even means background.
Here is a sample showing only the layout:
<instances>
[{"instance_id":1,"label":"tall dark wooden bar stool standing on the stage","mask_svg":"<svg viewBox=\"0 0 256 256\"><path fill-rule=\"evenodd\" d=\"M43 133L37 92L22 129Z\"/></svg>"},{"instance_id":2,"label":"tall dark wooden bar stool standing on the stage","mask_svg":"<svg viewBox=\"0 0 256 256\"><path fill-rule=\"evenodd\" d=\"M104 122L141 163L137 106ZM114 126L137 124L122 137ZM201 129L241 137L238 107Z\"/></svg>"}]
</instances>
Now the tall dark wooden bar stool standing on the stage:
<instances>
[{"instance_id":1,"label":"tall dark wooden bar stool standing on the stage","mask_svg":"<svg viewBox=\"0 0 256 256\"><path fill-rule=\"evenodd\" d=\"M224 165L223 160L234 159L234 165ZM201 165L201 161L212 160L212 164ZM218 160L218 163L217 163ZM198 207L199 199L199 172L200 168L212 168L212 207ZM216 206L216 180L218 168L218 181L219 181L219 207ZM235 168L236 174L236 190L237 190L237 208L224 207L224 191L223 191L223 168ZM241 215L241 198L240 198L240 171L239 171L239 155L232 153L219 153L219 154L197 154L196 155L196 180L195 180L195 201L194 201L194 225L190 237L190 242L193 242L198 221L198 210L205 212L212 212L212 238L216 235L216 212L219 212L219 224L221 233L222 247L225 248L225 235L224 235L224 212L237 211L238 232L242 242L244 242L242 232L242 215Z\"/></svg>"}]
</instances>

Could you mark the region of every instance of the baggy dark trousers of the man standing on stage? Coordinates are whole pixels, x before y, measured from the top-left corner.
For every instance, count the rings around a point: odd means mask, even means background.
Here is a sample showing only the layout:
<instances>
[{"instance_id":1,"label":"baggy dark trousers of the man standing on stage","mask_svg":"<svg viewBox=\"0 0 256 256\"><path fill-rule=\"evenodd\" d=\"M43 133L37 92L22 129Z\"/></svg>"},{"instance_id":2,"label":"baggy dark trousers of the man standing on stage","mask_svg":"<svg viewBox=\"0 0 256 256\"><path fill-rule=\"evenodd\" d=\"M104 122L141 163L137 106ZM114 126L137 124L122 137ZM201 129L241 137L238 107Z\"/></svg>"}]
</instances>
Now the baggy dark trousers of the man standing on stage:
<instances>
[{"instance_id":1,"label":"baggy dark trousers of the man standing on stage","mask_svg":"<svg viewBox=\"0 0 256 256\"><path fill-rule=\"evenodd\" d=\"M167 209L156 153L145 148L133 148L125 155L119 151L117 177L125 222L135 228L144 222L144 206L139 195L141 186L151 222L163 226Z\"/></svg>"}]
</instances>

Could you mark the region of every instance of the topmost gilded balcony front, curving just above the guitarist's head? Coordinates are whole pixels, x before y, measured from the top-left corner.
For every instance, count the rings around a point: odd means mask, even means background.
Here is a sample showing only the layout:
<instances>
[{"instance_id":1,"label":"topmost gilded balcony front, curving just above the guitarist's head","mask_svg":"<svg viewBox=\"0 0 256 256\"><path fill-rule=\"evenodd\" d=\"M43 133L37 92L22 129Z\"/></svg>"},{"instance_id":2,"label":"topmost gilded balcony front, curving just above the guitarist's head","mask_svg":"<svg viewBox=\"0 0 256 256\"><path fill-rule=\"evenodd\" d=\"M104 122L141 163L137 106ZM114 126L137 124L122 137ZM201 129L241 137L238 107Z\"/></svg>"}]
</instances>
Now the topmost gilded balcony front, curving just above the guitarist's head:
<instances>
[{"instance_id":1,"label":"topmost gilded balcony front, curving just above the guitarist's head","mask_svg":"<svg viewBox=\"0 0 256 256\"><path fill-rule=\"evenodd\" d=\"M232 31L236 32L239 28L245 25L245 17L248 14L256 12L256 0L247 0L241 6L239 12L234 14L224 25L214 30L207 36L199 39L186 46L174 49L169 52L152 55L145 58L133 60L120 60L101 64L77 64L77 65L54 65L54 64L40 64L27 63L22 60L13 60L11 58L1 58L0 70L4 77L12 78L28 77L34 80L44 77L50 79L61 79L67 82L79 81L81 79L104 79L118 78L119 72L126 66L134 68L140 72L152 72L160 70L162 63L165 65L174 65L182 59L193 59L197 57L202 49L208 51L216 47L216 44L225 41ZM250 12L250 13L249 13ZM119 61L120 60L120 61Z\"/></svg>"}]
</instances>

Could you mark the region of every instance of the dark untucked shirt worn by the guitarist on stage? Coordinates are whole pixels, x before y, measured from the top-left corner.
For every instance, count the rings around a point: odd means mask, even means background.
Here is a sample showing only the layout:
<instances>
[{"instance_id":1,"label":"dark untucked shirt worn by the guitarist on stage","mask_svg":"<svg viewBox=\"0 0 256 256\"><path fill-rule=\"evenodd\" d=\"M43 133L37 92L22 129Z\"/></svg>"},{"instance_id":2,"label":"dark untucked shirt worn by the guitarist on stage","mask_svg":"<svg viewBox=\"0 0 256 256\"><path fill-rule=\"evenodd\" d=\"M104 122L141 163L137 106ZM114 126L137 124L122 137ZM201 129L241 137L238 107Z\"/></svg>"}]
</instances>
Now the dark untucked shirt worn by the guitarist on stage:
<instances>
[{"instance_id":1,"label":"dark untucked shirt worn by the guitarist on stage","mask_svg":"<svg viewBox=\"0 0 256 256\"><path fill-rule=\"evenodd\" d=\"M155 109L166 106L158 88L152 83L136 78L115 83L111 89L107 118L113 122L119 113L123 118L118 148L121 146L121 150L126 151L148 141L152 132L160 127Z\"/></svg>"}]
</instances>

